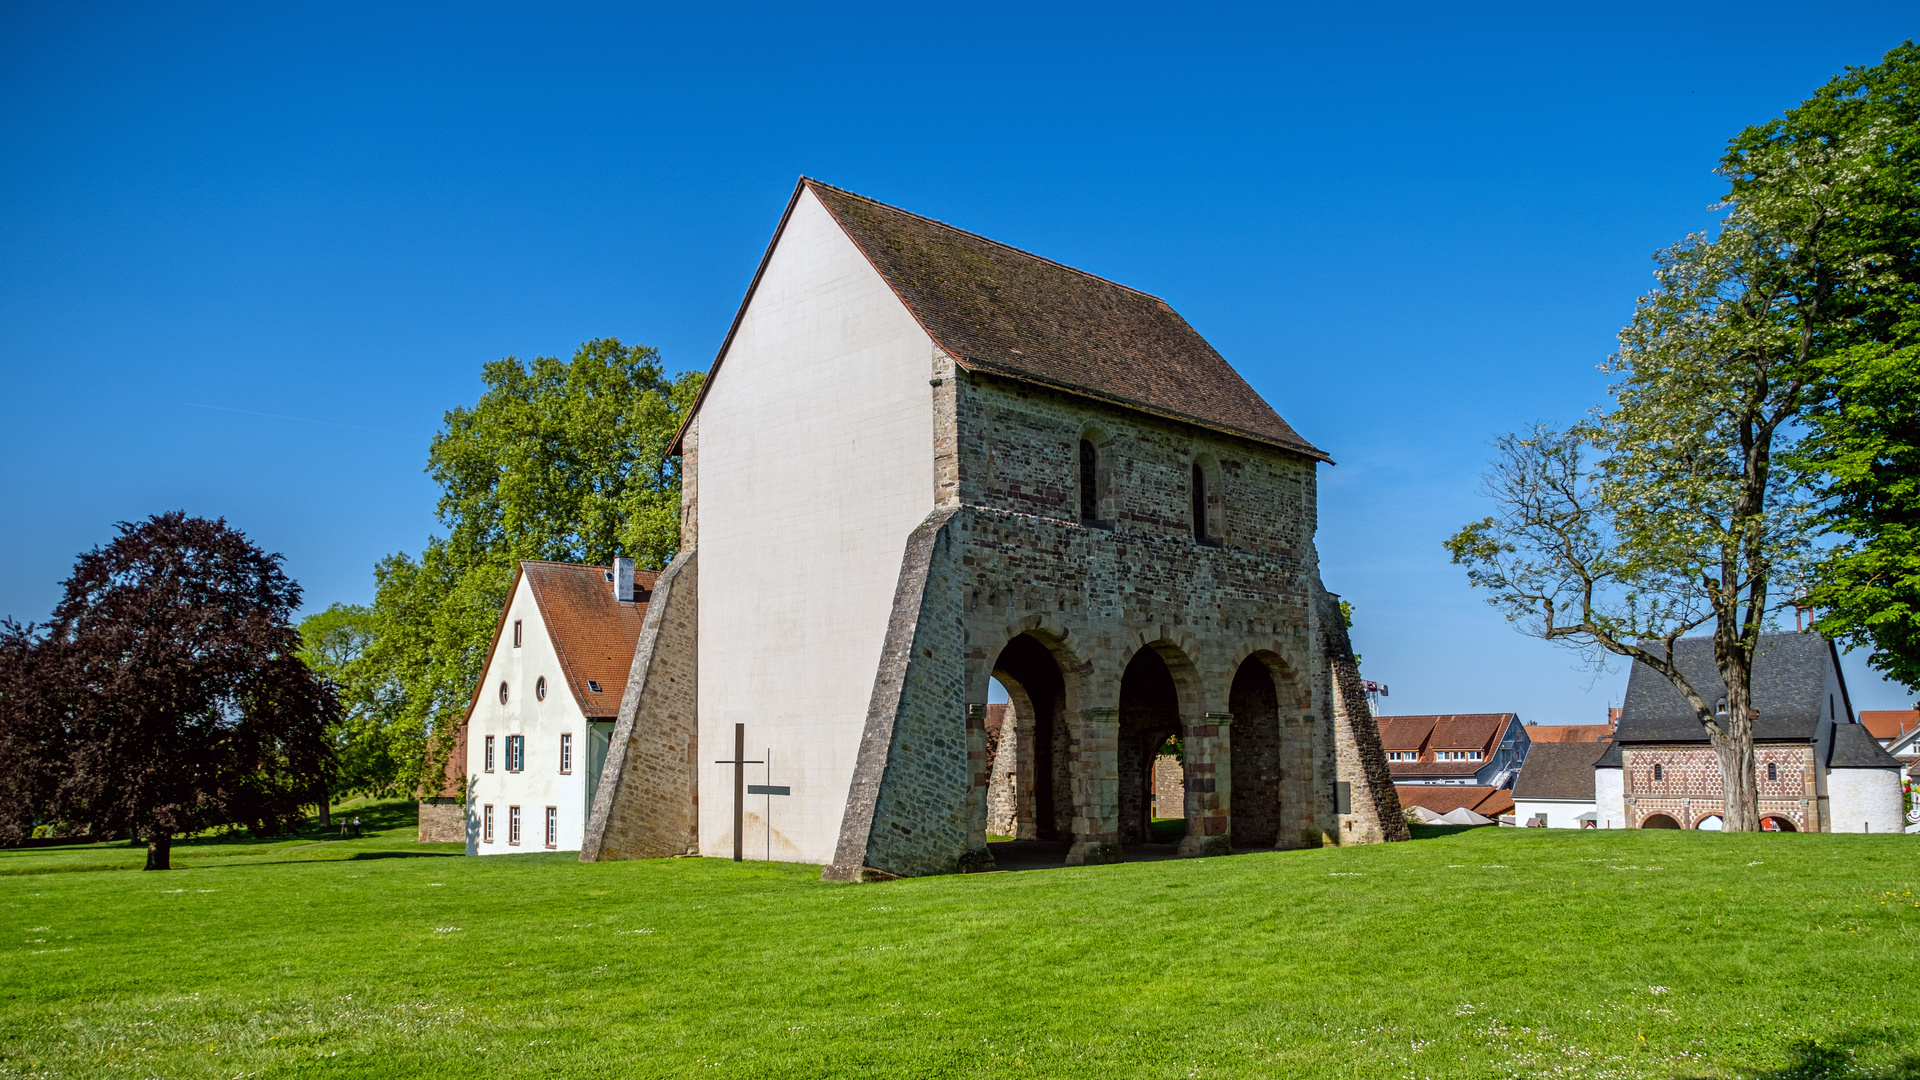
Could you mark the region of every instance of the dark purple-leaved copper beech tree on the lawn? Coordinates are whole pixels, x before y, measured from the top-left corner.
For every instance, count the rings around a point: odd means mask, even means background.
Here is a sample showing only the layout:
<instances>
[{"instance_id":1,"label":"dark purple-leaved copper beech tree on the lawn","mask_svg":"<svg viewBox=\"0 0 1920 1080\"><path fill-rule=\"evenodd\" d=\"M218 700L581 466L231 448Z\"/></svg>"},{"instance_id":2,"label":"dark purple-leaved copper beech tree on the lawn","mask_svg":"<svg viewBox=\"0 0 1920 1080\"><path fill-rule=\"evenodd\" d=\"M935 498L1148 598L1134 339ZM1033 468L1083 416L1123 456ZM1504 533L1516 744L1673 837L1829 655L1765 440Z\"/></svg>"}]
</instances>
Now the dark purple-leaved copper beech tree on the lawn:
<instances>
[{"instance_id":1,"label":"dark purple-leaved copper beech tree on the lawn","mask_svg":"<svg viewBox=\"0 0 1920 1080\"><path fill-rule=\"evenodd\" d=\"M44 632L0 650L6 763L33 817L146 842L219 826L278 832L330 765L332 688L300 659L300 586L225 521L163 513L81 555ZM13 694L21 676L33 694Z\"/></svg>"}]
</instances>

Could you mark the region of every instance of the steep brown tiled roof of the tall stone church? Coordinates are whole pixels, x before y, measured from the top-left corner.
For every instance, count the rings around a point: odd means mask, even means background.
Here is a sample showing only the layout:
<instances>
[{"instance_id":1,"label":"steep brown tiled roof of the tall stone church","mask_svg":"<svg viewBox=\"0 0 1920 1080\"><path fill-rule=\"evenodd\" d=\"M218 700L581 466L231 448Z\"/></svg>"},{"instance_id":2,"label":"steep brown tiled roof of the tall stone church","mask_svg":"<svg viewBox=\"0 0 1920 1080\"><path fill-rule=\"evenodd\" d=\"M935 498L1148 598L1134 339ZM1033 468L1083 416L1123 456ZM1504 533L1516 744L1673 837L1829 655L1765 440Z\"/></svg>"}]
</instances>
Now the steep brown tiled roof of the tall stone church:
<instances>
[{"instance_id":1,"label":"steep brown tiled roof of the tall stone church","mask_svg":"<svg viewBox=\"0 0 1920 1080\"><path fill-rule=\"evenodd\" d=\"M801 177L793 198L803 190L814 192L962 369L1056 386L1327 459L1158 296L820 181ZM760 265L764 271L764 259ZM730 331L728 342L732 336ZM714 373L718 365L716 359ZM689 415L697 409L699 402Z\"/></svg>"}]
</instances>

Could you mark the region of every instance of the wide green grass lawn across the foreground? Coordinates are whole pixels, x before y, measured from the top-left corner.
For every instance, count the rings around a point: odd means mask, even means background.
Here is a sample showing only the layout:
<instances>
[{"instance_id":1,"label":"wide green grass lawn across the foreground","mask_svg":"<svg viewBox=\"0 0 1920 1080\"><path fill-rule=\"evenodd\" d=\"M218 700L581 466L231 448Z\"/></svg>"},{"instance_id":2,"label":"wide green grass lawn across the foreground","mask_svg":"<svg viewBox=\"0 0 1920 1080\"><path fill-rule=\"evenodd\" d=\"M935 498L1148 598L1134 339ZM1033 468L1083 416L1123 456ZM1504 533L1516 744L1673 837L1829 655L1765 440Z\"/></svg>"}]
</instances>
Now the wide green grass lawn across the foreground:
<instances>
[{"instance_id":1,"label":"wide green grass lawn across the foreground","mask_svg":"<svg viewBox=\"0 0 1920 1080\"><path fill-rule=\"evenodd\" d=\"M1476 828L820 882L0 851L0 1076L1920 1076L1920 842ZM92 872L75 872L92 871Z\"/></svg>"}]
</instances>

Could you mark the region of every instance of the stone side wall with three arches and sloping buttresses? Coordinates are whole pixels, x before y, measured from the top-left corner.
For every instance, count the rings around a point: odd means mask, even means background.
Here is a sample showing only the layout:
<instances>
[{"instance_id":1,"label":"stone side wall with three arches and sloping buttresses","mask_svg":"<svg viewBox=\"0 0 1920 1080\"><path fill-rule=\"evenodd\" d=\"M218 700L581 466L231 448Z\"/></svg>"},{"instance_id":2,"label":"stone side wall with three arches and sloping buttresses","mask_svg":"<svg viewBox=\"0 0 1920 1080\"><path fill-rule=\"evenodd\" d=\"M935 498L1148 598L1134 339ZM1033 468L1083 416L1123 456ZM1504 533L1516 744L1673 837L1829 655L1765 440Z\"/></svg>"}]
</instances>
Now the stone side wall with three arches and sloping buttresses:
<instances>
[{"instance_id":1,"label":"stone side wall with three arches and sloping buttresses","mask_svg":"<svg viewBox=\"0 0 1920 1080\"><path fill-rule=\"evenodd\" d=\"M977 865L989 769L970 763L968 703L985 701L1000 650L1020 634L1052 653L1066 684L1069 861L1123 857L1116 707L1121 673L1146 648L1173 673L1183 724L1217 740L1221 755L1231 753L1235 673L1258 659L1273 675L1284 746L1277 790L1261 798L1283 803L1279 846L1405 836L1398 813L1379 805L1369 761L1379 757L1384 776L1384 753L1371 713L1352 713L1336 694L1357 688L1356 673L1329 663L1317 638L1311 459L960 373L937 350L931 375L935 434L954 448L935 455L943 505L924 530L941 525L937 536L916 532L906 552L841 851L826 876ZM1102 452L1094 523L1081 521L1083 436ZM1192 536L1196 461L1210 475L1213 542ZM1342 626L1352 669L1344 640ZM1213 805L1225 805L1227 774L1208 780L1208 813L1188 817L1194 842L1183 849L1229 849L1231 822ZM1338 780L1365 799L1346 821L1334 815ZM1384 798L1394 798L1390 782Z\"/></svg>"}]
</instances>

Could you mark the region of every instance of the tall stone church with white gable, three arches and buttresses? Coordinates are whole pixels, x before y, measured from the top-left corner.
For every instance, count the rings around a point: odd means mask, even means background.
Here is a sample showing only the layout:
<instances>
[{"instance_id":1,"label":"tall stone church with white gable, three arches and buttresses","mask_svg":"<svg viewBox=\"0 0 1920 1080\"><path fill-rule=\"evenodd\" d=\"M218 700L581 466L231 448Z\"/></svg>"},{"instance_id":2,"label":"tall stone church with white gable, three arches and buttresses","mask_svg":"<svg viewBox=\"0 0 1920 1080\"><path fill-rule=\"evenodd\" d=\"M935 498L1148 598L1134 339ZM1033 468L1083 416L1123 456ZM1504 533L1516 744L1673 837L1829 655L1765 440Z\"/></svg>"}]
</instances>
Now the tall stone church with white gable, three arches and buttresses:
<instances>
[{"instance_id":1,"label":"tall stone church with white gable, three arches and buttresses","mask_svg":"<svg viewBox=\"0 0 1920 1080\"><path fill-rule=\"evenodd\" d=\"M1069 865L1148 840L1171 734L1181 853L1407 836L1329 457L1165 302L803 179L674 450L582 859L989 869L989 678L1016 834ZM783 792L739 813L737 730Z\"/></svg>"}]
</instances>

